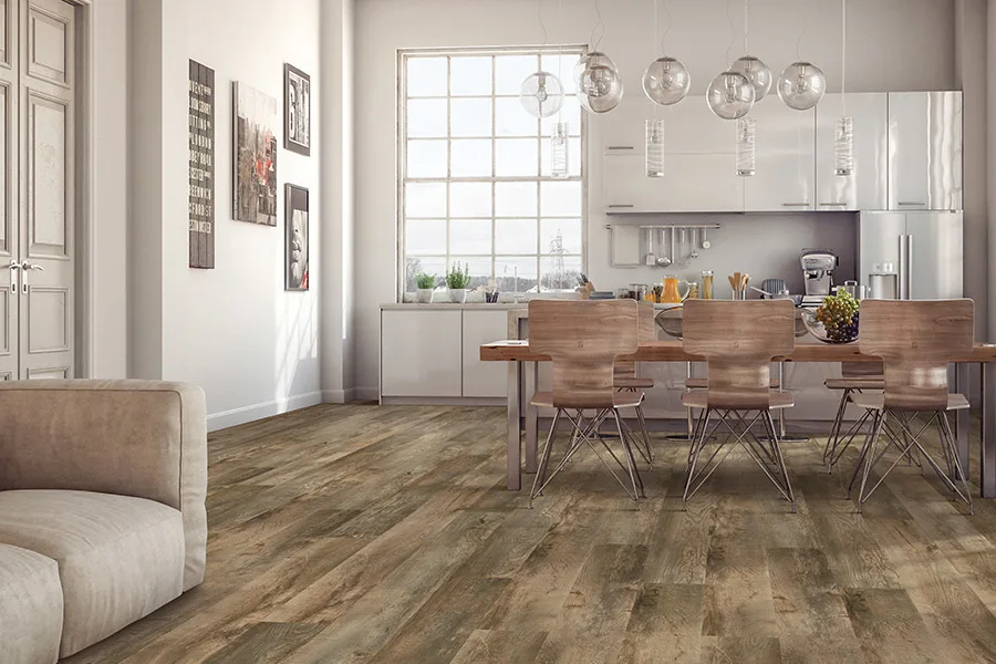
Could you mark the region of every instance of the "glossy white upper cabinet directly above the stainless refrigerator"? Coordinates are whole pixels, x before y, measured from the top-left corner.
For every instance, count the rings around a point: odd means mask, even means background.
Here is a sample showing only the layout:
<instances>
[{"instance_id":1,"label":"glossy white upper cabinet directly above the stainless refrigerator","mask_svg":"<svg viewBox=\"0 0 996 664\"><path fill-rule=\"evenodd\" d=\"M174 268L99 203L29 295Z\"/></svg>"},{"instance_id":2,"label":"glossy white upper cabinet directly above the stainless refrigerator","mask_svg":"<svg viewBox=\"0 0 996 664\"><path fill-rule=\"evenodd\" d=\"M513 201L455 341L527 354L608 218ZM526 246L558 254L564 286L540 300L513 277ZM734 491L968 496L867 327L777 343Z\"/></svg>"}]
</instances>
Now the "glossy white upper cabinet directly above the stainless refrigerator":
<instances>
[{"instance_id":1,"label":"glossy white upper cabinet directly above the stainless refrigerator","mask_svg":"<svg viewBox=\"0 0 996 664\"><path fill-rule=\"evenodd\" d=\"M889 93L889 209L962 209L961 92Z\"/></svg>"}]
</instances>

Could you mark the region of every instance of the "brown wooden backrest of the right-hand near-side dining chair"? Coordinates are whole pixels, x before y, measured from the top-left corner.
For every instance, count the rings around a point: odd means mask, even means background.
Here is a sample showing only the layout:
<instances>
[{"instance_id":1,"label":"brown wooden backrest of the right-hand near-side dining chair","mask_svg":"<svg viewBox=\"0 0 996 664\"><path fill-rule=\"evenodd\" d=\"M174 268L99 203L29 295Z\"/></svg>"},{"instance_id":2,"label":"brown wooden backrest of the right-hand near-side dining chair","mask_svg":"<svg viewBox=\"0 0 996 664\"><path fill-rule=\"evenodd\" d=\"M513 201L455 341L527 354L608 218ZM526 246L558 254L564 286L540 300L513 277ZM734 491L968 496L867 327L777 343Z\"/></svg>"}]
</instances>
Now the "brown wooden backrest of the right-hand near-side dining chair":
<instances>
[{"instance_id":1,"label":"brown wooden backrest of the right-hand near-side dining chair","mask_svg":"<svg viewBox=\"0 0 996 664\"><path fill-rule=\"evenodd\" d=\"M864 300L858 347L885 363L885 407L947 406L947 363L972 352L972 300Z\"/></svg>"}]
</instances>

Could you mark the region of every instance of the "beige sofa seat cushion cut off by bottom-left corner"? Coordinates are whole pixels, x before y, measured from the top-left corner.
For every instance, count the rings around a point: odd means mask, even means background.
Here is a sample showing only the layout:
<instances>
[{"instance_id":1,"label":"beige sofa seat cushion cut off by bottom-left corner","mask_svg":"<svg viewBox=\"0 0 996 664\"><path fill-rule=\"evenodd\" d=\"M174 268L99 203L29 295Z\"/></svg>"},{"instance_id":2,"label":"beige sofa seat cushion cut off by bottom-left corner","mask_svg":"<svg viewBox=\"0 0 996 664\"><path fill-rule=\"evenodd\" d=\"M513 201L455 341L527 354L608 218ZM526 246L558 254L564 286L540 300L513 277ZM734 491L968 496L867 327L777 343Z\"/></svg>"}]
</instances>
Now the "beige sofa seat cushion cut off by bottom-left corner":
<instances>
[{"instance_id":1,"label":"beige sofa seat cushion cut off by bottom-left corner","mask_svg":"<svg viewBox=\"0 0 996 664\"><path fill-rule=\"evenodd\" d=\"M62 635L62 585L51 558L0 544L0 662L53 664Z\"/></svg>"}]
</instances>

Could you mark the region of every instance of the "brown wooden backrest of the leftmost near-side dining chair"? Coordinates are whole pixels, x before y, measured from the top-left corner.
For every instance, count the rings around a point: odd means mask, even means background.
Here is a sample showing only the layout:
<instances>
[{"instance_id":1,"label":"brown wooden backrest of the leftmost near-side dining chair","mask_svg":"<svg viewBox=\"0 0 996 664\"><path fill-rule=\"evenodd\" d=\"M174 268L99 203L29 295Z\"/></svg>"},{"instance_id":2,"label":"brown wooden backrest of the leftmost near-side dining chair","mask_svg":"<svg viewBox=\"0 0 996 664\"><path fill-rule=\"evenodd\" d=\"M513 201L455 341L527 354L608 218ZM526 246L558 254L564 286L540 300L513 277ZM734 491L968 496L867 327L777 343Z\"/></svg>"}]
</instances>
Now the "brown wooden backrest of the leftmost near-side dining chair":
<instances>
[{"instance_id":1,"label":"brown wooden backrest of the leftmost near-side dining chair","mask_svg":"<svg viewBox=\"0 0 996 664\"><path fill-rule=\"evenodd\" d=\"M637 315L633 300L529 302L529 347L553 361L554 406L612 406L615 359L636 352Z\"/></svg>"}]
</instances>

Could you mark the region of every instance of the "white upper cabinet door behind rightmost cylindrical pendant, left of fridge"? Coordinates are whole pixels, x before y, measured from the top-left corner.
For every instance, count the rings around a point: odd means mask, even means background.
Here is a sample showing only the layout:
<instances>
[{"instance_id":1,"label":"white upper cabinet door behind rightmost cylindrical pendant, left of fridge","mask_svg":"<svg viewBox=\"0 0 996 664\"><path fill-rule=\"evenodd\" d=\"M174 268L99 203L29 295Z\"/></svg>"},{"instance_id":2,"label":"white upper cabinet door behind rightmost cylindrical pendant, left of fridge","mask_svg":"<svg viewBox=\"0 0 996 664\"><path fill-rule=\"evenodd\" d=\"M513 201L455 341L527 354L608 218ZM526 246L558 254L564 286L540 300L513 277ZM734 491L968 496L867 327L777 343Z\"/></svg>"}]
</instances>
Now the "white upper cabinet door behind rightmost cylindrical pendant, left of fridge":
<instances>
[{"instance_id":1,"label":"white upper cabinet door behind rightmost cylindrical pendant, left of fridge","mask_svg":"<svg viewBox=\"0 0 996 664\"><path fill-rule=\"evenodd\" d=\"M845 101L845 104L844 104ZM889 95L884 92L823 95L817 114L817 209L884 210L889 206ZM834 173L837 120L853 123L851 175Z\"/></svg>"}]
</instances>

